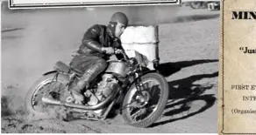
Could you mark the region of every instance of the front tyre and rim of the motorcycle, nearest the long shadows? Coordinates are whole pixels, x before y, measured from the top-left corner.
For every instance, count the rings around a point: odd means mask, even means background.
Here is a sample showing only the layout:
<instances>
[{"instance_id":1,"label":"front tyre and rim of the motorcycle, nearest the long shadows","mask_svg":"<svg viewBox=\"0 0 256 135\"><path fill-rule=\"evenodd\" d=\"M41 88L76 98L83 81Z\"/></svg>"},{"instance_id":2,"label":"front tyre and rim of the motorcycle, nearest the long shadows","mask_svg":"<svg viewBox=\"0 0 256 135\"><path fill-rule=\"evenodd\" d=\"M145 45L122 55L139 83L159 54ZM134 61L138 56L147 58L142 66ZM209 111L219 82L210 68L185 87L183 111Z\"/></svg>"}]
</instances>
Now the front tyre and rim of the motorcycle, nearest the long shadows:
<instances>
[{"instance_id":1,"label":"front tyre and rim of the motorcycle, nearest the long shadows","mask_svg":"<svg viewBox=\"0 0 256 135\"><path fill-rule=\"evenodd\" d=\"M139 106L137 104L136 107L132 106L132 104L134 103L134 101L132 101L134 99L132 99L132 98L134 98L134 96L138 97L138 96L136 96L136 93L138 93L138 91L136 89L135 84L132 84L129 91L127 91L127 93L124 97L124 102L123 102L123 107L122 107L123 111L122 112L123 112L124 121L128 125L132 125L132 126L135 126L135 127L147 127L149 125L152 125L156 120L158 120L161 117L161 115L162 115L162 113L163 113L163 111L164 111L164 109L167 105L169 88L168 88L166 78L164 78L163 76L161 76L158 73L148 73L148 74L141 77L141 83L143 85L144 85L144 83L146 83L150 80L158 82L159 87L160 87L160 94L159 95L149 94L148 97L150 97L150 99L148 100L148 102L146 104L139 104ZM153 87L154 86L156 86L156 85L153 85ZM154 88L157 88L157 87L154 87ZM150 91L152 91L152 89ZM145 95L147 95L146 93L148 93L148 91L144 91L143 93L145 93ZM135 118L135 119L132 118L132 116L136 115L135 113L137 113L137 112L134 112L132 114L132 111L134 111L134 110L137 110L137 109L140 108L141 110L144 111L144 112L142 111L142 113L146 113L147 111L149 111L148 107L151 108L153 106L152 105L153 102L155 102L154 101L154 99L155 99L154 96L159 96L159 101L157 102L156 108L153 109L153 111L147 117L139 116L142 119L139 119L138 121L137 121L137 118ZM135 100L137 100L137 99L135 99ZM138 101L136 101L136 102L139 103ZM134 110L132 110L132 109L134 109Z\"/></svg>"}]
</instances>

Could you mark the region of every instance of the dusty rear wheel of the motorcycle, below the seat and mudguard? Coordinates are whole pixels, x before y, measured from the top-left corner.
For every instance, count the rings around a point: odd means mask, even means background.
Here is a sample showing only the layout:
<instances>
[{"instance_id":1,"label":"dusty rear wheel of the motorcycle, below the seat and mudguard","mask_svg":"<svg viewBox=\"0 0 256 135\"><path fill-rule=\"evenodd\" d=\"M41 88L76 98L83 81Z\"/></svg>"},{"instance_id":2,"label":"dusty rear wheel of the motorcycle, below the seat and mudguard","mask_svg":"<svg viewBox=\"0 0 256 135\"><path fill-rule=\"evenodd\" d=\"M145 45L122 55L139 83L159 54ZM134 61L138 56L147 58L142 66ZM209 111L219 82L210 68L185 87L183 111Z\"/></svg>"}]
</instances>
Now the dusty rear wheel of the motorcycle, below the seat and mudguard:
<instances>
[{"instance_id":1,"label":"dusty rear wheel of the motorcycle, below the seat and mudguard","mask_svg":"<svg viewBox=\"0 0 256 135\"><path fill-rule=\"evenodd\" d=\"M42 102L42 97L50 92L49 89L47 89L47 84L53 84L53 83L60 83L65 84L68 83L68 76L59 73L57 76L57 79L53 79L56 75L56 72L47 74L39 80L37 80L34 84L32 84L32 87L27 92L25 97L25 110L32 115L40 115L40 114L46 114L48 105L45 105ZM62 85L61 85L62 86ZM44 88L46 88L44 90ZM42 91L43 90L43 91ZM36 99L34 99L36 98ZM35 104L39 105L39 107L35 107ZM41 107L41 108L40 108ZM50 106L51 107L51 106Z\"/></svg>"}]
</instances>

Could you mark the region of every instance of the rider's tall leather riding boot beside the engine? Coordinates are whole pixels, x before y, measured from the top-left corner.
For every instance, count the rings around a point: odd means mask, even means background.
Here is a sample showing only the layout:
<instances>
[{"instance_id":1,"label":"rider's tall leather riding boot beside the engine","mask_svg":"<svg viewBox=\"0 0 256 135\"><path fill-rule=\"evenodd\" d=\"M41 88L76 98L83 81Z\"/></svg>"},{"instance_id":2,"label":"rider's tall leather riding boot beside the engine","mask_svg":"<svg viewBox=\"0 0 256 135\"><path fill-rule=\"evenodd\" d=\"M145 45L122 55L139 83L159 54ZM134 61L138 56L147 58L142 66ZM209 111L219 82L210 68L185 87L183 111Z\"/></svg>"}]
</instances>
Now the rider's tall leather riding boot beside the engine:
<instances>
[{"instance_id":1,"label":"rider's tall leather riding boot beside the engine","mask_svg":"<svg viewBox=\"0 0 256 135\"><path fill-rule=\"evenodd\" d=\"M77 104L82 105L82 102L84 101L82 90L88 89L91 80L96 78L96 76L101 73L105 67L106 66L103 66L102 64L94 64L93 66L90 66L89 69L82 75L82 78L80 78L75 87L70 90Z\"/></svg>"}]
</instances>

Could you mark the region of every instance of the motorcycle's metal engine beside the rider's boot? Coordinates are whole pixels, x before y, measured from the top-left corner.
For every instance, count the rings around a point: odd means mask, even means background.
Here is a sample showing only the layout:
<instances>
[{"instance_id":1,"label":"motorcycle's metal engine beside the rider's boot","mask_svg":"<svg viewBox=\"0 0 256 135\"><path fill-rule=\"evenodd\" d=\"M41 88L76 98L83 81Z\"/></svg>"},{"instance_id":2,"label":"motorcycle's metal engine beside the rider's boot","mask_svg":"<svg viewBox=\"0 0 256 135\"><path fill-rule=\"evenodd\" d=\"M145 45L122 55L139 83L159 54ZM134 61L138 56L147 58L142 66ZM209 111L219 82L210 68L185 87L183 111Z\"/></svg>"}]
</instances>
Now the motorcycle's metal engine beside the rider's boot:
<instances>
[{"instance_id":1,"label":"motorcycle's metal engine beside the rider's boot","mask_svg":"<svg viewBox=\"0 0 256 135\"><path fill-rule=\"evenodd\" d=\"M84 95L88 98L88 105L97 105L108 98L112 91L118 91L118 80L112 74L104 74L102 81L97 84L96 91L86 91Z\"/></svg>"}]
</instances>

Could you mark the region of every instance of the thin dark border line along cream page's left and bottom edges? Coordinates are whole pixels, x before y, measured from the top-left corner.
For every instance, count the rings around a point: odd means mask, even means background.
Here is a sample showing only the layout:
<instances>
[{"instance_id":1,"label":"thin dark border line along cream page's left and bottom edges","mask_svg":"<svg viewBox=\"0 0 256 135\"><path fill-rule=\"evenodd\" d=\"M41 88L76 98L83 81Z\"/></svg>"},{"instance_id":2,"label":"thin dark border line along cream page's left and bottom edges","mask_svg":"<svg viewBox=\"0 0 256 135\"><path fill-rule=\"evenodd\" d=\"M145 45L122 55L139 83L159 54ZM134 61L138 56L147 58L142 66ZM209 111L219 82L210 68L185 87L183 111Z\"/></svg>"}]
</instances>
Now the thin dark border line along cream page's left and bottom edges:
<instances>
[{"instance_id":1,"label":"thin dark border line along cream page's left and bottom edges","mask_svg":"<svg viewBox=\"0 0 256 135\"><path fill-rule=\"evenodd\" d=\"M255 134L256 132L224 132L224 0L222 0L222 129L221 133L223 134ZM220 98L221 99L221 98Z\"/></svg>"}]
</instances>

